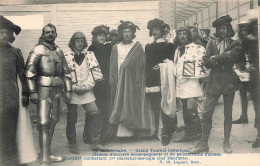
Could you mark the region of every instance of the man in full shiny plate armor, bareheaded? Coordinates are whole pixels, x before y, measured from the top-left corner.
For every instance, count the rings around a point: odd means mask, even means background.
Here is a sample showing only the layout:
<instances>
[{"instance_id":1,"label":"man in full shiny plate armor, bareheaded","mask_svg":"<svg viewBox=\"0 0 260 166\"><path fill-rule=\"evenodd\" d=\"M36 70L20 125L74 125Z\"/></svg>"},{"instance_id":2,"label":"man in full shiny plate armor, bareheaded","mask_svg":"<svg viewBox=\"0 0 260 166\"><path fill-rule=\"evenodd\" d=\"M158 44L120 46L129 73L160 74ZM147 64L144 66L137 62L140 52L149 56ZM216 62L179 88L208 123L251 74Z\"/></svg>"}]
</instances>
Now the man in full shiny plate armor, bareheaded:
<instances>
[{"instance_id":1,"label":"man in full shiny plate armor, bareheaded","mask_svg":"<svg viewBox=\"0 0 260 166\"><path fill-rule=\"evenodd\" d=\"M43 28L37 46L27 59L26 77L30 98L37 104L40 144L40 164L50 165L51 161L62 161L50 153L54 127L59 121L60 98L66 91L65 102L70 98L70 70L62 50L55 45L56 27L48 24Z\"/></svg>"}]
</instances>

